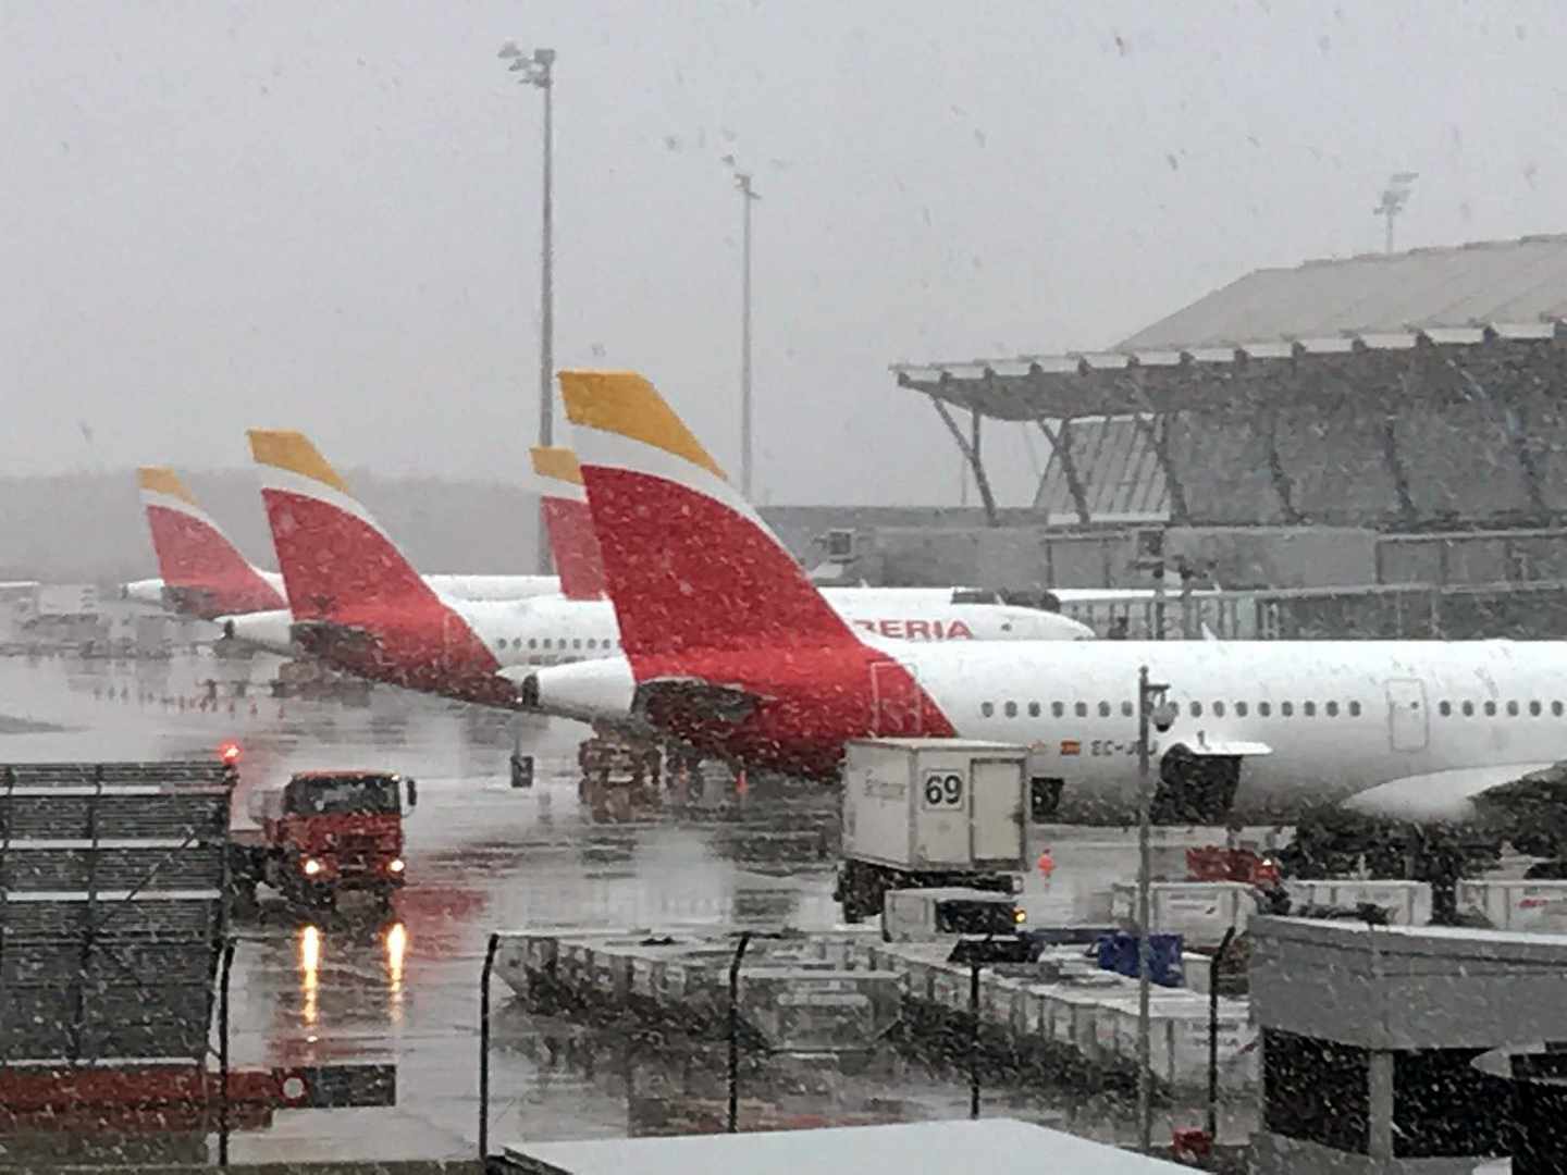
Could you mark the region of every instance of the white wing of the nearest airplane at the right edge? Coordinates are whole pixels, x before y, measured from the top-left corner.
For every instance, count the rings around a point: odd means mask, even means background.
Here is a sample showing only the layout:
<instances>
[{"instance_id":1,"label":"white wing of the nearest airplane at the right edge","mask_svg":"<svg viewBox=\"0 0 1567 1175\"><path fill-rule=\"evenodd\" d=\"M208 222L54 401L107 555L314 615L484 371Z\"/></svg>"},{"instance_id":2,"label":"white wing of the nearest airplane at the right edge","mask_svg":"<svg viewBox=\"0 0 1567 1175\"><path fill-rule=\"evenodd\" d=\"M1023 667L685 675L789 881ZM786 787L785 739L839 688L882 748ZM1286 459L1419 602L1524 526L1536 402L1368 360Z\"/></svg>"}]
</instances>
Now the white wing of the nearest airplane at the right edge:
<instances>
[{"instance_id":1,"label":"white wing of the nearest airplane at the right edge","mask_svg":"<svg viewBox=\"0 0 1567 1175\"><path fill-rule=\"evenodd\" d=\"M1567 801L1567 765L1496 763L1393 779L1351 796L1344 807L1395 819L1495 819L1517 826L1528 808L1559 807L1562 801Z\"/></svg>"}]
</instances>

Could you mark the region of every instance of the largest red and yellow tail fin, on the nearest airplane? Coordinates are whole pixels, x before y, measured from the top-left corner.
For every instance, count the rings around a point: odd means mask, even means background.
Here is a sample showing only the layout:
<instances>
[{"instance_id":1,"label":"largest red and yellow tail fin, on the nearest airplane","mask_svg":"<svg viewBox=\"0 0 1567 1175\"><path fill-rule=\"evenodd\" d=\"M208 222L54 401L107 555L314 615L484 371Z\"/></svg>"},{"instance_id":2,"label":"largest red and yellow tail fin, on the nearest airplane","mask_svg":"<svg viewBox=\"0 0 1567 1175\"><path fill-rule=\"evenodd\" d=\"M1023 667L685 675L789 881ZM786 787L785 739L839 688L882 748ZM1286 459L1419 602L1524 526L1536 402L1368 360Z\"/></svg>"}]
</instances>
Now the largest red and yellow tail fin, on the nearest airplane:
<instances>
[{"instance_id":1,"label":"largest red and yellow tail fin, on the nearest airplane","mask_svg":"<svg viewBox=\"0 0 1567 1175\"><path fill-rule=\"evenodd\" d=\"M859 644L674 409L630 371L563 371L630 655Z\"/></svg>"}]
</instances>

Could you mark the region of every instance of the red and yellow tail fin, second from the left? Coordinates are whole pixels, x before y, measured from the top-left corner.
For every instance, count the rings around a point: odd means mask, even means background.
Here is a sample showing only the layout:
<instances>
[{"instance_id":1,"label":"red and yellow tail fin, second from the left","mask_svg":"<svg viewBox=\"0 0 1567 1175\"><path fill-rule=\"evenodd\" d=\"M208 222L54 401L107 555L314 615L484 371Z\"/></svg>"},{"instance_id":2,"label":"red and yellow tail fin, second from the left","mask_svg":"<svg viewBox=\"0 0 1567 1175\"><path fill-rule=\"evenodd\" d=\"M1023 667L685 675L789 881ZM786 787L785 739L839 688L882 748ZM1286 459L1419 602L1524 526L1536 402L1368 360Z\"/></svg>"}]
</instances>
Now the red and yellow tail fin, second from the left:
<instances>
[{"instance_id":1,"label":"red and yellow tail fin, second from the left","mask_svg":"<svg viewBox=\"0 0 1567 1175\"><path fill-rule=\"evenodd\" d=\"M260 428L248 436L296 619L329 620L343 609L440 606L440 597L309 437Z\"/></svg>"}]
</instances>

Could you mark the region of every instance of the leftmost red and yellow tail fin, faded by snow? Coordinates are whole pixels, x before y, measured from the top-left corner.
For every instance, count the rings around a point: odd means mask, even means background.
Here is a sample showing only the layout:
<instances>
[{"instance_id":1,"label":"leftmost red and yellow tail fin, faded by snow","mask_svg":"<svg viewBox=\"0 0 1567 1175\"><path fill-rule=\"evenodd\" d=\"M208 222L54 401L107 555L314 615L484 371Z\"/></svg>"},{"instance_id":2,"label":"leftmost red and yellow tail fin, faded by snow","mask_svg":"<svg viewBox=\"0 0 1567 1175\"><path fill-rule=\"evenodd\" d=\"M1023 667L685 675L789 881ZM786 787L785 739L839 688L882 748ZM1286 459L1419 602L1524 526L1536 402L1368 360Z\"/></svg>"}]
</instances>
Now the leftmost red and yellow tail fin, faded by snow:
<instances>
[{"instance_id":1,"label":"leftmost red and yellow tail fin, faded by snow","mask_svg":"<svg viewBox=\"0 0 1567 1175\"><path fill-rule=\"evenodd\" d=\"M196 503L174 470L143 465L136 470L136 486L158 573L177 606L207 619L284 606L277 591Z\"/></svg>"}]
</instances>

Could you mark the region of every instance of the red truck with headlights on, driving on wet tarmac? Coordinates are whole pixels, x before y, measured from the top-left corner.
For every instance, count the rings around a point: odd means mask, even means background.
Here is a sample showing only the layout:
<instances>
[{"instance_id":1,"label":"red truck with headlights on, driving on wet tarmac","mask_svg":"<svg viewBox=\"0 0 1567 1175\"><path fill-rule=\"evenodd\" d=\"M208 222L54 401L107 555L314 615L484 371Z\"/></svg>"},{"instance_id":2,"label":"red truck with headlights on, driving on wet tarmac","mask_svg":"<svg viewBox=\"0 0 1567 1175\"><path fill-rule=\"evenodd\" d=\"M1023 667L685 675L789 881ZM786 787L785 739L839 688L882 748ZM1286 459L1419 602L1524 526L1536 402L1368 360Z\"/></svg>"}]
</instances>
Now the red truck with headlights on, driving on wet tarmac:
<instances>
[{"instance_id":1,"label":"red truck with headlights on, driving on wet tarmac","mask_svg":"<svg viewBox=\"0 0 1567 1175\"><path fill-rule=\"evenodd\" d=\"M238 757L238 747L224 747L230 772ZM332 907L345 890L390 902L406 882L403 815L417 802L415 782L387 771L301 771L252 793L249 815L260 827L229 838L235 896L254 906L265 882L299 906Z\"/></svg>"}]
</instances>

